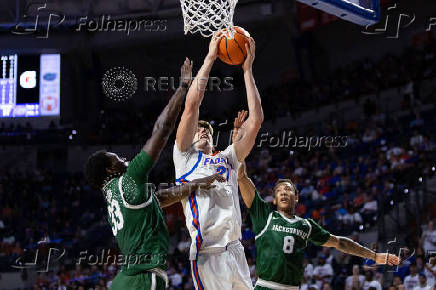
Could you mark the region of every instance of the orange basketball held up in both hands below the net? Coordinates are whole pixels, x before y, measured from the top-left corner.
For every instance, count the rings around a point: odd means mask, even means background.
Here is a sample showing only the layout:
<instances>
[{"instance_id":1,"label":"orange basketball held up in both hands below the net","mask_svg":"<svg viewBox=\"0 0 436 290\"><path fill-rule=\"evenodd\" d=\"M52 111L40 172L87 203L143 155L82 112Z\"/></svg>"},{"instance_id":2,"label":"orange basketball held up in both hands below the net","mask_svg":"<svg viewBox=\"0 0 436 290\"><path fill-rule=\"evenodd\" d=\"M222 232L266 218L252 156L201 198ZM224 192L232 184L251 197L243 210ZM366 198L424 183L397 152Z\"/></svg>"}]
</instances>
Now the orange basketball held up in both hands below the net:
<instances>
[{"instance_id":1,"label":"orange basketball held up in both hands below the net","mask_svg":"<svg viewBox=\"0 0 436 290\"><path fill-rule=\"evenodd\" d=\"M230 65L240 65L247 57L247 51L245 44L248 43L250 34L243 28L235 26L234 38L230 39L230 36L221 38L218 45L218 57L223 62Z\"/></svg>"}]
</instances>

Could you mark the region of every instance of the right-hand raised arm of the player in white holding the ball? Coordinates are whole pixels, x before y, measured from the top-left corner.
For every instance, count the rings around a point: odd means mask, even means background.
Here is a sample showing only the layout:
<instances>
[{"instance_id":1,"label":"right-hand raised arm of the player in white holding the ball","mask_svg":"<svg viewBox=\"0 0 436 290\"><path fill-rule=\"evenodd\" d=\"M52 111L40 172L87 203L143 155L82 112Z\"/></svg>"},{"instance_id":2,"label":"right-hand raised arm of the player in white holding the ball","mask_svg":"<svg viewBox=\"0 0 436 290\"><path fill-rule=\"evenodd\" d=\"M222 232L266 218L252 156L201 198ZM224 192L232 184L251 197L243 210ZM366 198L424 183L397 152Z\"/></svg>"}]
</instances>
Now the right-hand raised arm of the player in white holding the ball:
<instances>
[{"instance_id":1,"label":"right-hand raised arm of the player in white holding the ball","mask_svg":"<svg viewBox=\"0 0 436 290\"><path fill-rule=\"evenodd\" d=\"M250 38L249 45L246 44L245 47L247 49L247 58L242 65L242 69L244 70L245 89L247 91L248 119L241 128L243 130L241 138L234 143L235 153L239 161L245 160L250 154L263 122L262 104L252 70L256 50L254 39Z\"/></svg>"}]
</instances>

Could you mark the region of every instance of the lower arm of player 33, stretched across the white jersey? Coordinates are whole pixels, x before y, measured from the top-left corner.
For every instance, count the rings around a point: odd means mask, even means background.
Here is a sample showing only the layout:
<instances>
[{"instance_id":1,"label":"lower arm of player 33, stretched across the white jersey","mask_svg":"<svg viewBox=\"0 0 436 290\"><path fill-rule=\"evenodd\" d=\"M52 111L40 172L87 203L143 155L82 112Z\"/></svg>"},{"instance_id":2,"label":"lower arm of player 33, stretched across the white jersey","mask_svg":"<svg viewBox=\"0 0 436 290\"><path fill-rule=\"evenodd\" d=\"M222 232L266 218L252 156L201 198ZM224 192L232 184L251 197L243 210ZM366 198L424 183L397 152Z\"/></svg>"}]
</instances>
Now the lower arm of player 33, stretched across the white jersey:
<instances>
[{"instance_id":1,"label":"lower arm of player 33, stretched across the white jersey","mask_svg":"<svg viewBox=\"0 0 436 290\"><path fill-rule=\"evenodd\" d=\"M160 206L164 208L181 201L185 197L189 196L194 190L208 190L214 188L215 185L212 185L212 183L215 180L217 180L218 182L223 182L225 181L225 178L218 173L215 173L214 175L208 177L194 179L191 182L185 183L183 185L159 190L156 192L156 196L159 199Z\"/></svg>"}]
</instances>

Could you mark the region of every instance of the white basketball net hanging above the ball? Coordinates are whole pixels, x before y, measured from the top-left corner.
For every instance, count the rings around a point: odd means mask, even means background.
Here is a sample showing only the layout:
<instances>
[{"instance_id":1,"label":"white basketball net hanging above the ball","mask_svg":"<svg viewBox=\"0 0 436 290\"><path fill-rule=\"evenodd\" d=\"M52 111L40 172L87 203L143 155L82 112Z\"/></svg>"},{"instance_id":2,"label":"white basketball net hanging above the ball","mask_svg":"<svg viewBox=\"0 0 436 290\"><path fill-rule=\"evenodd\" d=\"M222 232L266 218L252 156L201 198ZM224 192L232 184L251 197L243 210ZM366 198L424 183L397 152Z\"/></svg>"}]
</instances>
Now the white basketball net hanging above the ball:
<instances>
[{"instance_id":1,"label":"white basketball net hanging above the ball","mask_svg":"<svg viewBox=\"0 0 436 290\"><path fill-rule=\"evenodd\" d=\"M209 37L227 28L233 36L233 13L238 0L180 0L185 34Z\"/></svg>"}]
</instances>

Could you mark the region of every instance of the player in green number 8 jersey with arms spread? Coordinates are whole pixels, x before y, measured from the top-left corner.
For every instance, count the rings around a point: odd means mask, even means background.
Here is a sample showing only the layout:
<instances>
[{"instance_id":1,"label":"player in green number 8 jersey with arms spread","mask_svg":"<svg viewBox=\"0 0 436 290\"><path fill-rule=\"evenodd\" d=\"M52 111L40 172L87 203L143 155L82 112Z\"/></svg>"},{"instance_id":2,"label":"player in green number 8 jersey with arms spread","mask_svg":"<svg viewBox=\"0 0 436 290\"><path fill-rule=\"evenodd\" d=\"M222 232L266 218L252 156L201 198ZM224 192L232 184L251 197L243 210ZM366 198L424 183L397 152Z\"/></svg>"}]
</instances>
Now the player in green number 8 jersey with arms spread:
<instances>
[{"instance_id":1,"label":"player in green number 8 jersey with arms spread","mask_svg":"<svg viewBox=\"0 0 436 290\"><path fill-rule=\"evenodd\" d=\"M298 191L289 179L277 181L273 209L256 191L243 163L238 171L238 185L249 208L256 234L255 289L298 289L304 273L303 259L307 242L333 247L344 253L375 260L377 264L398 265L397 256L375 253L349 238L335 236L312 219L295 215Z\"/></svg>"}]
</instances>

